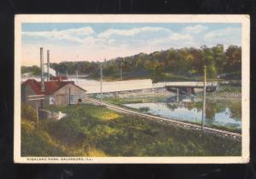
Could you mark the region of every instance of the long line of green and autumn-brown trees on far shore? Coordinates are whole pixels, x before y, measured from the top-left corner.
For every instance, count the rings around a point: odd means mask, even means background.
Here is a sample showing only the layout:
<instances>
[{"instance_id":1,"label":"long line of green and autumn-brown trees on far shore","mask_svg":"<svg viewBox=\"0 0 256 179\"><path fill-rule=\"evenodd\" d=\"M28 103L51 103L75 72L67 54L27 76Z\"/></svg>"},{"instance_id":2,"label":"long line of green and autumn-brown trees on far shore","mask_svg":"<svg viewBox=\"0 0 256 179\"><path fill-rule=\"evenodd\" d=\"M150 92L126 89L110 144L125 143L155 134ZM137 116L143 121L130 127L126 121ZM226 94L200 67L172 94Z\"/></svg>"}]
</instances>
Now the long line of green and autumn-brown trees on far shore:
<instances>
[{"instance_id":1,"label":"long line of green and autumn-brown trees on far shore","mask_svg":"<svg viewBox=\"0 0 256 179\"><path fill-rule=\"evenodd\" d=\"M99 66L102 66L104 77L119 78L122 69L124 78L145 77L159 81L173 75L198 77L202 76L207 66L207 77L218 78L226 74L234 74L241 78L241 47L217 44L211 48L166 49L150 54L140 53L126 57L117 57L110 61L63 61L51 63L57 72L89 74L91 78L99 78Z\"/></svg>"}]
</instances>

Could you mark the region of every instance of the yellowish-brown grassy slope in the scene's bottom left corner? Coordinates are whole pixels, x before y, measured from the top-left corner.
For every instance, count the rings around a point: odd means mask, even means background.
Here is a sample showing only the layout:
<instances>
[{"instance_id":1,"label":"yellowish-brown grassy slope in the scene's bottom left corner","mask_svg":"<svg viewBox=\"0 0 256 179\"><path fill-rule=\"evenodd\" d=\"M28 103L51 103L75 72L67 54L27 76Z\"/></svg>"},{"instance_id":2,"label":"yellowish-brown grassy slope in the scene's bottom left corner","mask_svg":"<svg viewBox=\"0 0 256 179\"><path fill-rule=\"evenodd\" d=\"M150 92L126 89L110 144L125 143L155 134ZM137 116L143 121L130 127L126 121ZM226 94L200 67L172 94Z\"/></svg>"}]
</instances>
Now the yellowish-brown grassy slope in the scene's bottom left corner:
<instances>
[{"instance_id":1,"label":"yellowish-brown grassy slope in the scene's bottom left corner","mask_svg":"<svg viewBox=\"0 0 256 179\"><path fill-rule=\"evenodd\" d=\"M42 125L44 127L42 127ZM45 124L41 123L40 129L36 129L35 124L26 118L21 119L21 156L34 157L61 157L61 156L107 156L95 147L84 148L69 146L67 143L53 137L45 129Z\"/></svg>"}]
</instances>

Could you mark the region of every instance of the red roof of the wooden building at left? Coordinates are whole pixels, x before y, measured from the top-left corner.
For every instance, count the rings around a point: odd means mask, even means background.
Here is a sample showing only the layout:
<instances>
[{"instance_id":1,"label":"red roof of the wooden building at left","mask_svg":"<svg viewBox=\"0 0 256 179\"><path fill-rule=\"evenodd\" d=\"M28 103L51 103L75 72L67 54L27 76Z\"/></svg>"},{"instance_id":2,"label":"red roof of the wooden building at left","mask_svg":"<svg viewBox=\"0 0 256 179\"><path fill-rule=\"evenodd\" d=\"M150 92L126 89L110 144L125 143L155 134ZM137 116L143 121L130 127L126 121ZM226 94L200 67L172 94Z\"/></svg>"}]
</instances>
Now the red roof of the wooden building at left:
<instances>
[{"instance_id":1,"label":"red roof of the wooden building at left","mask_svg":"<svg viewBox=\"0 0 256 179\"><path fill-rule=\"evenodd\" d=\"M60 90L66 84L73 84L74 86L78 87L79 89L84 90L81 87L79 87L78 85L74 84L73 81L44 82L44 93L41 91L41 82L38 82L35 79L27 79L26 82L24 82L23 84L30 85L32 90L37 95L51 95L51 94L55 93L55 91ZM86 90L84 90L84 91L86 91Z\"/></svg>"}]
</instances>

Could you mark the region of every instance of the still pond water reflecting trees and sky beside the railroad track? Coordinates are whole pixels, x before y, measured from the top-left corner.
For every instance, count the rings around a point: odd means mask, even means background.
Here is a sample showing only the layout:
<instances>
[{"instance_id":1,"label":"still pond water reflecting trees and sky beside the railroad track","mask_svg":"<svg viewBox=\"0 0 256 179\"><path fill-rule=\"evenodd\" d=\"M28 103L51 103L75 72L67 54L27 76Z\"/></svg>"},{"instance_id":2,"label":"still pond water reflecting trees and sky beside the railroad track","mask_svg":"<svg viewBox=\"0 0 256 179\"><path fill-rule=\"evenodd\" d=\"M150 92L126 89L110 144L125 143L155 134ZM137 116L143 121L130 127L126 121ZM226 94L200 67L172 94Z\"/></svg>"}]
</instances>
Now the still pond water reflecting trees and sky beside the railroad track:
<instances>
[{"instance_id":1,"label":"still pond water reflecting trees and sky beside the railroad track","mask_svg":"<svg viewBox=\"0 0 256 179\"><path fill-rule=\"evenodd\" d=\"M141 110L143 113L151 113L164 118L201 123L202 100L201 96L179 95L172 96L161 102L125 104ZM223 126L233 129L241 129L241 101L211 101L207 100L206 120L208 126Z\"/></svg>"}]
</instances>

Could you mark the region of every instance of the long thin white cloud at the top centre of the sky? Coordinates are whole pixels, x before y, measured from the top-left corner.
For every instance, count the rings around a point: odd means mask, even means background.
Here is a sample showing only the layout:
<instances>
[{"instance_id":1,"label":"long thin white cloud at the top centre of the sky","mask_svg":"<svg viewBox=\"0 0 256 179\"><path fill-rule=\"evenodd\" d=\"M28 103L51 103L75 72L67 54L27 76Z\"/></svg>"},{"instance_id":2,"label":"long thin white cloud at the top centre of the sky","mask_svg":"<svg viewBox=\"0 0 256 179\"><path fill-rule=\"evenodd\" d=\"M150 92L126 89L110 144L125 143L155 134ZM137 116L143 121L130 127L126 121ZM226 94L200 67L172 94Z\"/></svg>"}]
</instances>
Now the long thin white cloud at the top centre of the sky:
<instances>
[{"instance_id":1,"label":"long thin white cloud at the top centre of the sky","mask_svg":"<svg viewBox=\"0 0 256 179\"><path fill-rule=\"evenodd\" d=\"M139 33L147 33L147 32L171 32L169 29L166 29L164 27L137 27L137 28L131 28L131 29L108 29L98 35L99 38L109 38L114 35L119 36L134 36Z\"/></svg>"}]
</instances>

